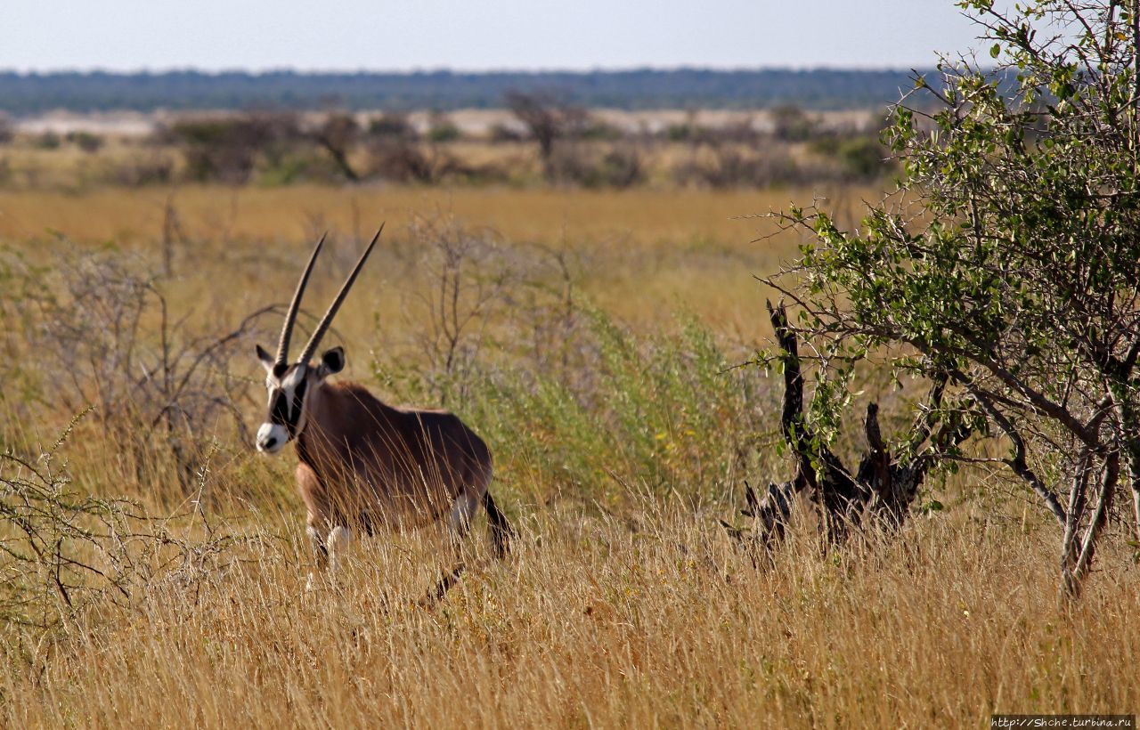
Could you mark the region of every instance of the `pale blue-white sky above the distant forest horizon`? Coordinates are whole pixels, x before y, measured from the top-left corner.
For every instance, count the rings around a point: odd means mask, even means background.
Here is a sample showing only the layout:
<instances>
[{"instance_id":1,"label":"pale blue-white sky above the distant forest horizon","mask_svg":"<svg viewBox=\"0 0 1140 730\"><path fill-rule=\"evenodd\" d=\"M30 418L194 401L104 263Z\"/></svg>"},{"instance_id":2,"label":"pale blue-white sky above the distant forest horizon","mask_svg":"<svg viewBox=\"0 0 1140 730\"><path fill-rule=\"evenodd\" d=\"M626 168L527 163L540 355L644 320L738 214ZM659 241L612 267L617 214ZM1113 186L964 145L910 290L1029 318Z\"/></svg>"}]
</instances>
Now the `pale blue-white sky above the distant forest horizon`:
<instances>
[{"instance_id":1,"label":"pale blue-white sky above the distant forest horizon","mask_svg":"<svg viewBox=\"0 0 1140 730\"><path fill-rule=\"evenodd\" d=\"M952 0L2 0L0 69L929 66Z\"/></svg>"}]
</instances>

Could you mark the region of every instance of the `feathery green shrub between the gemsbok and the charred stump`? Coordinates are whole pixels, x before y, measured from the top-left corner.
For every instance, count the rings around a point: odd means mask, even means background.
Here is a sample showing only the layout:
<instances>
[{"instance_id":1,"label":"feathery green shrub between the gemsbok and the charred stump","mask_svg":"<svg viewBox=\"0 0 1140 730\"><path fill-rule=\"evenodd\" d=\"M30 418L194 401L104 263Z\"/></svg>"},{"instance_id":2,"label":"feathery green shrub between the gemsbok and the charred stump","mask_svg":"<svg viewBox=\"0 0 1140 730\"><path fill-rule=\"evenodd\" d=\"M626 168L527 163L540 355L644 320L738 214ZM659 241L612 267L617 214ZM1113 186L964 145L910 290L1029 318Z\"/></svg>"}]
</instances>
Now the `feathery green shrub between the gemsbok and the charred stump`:
<instances>
[{"instance_id":1,"label":"feathery green shrub between the gemsbok and the charred stump","mask_svg":"<svg viewBox=\"0 0 1140 730\"><path fill-rule=\"evenodd\" d=\"M693 503L739 489L779 418L771 389L695 321L641 338L602 312L583 333L589 377L524 363L483 368L461 416L487 438L508 489L619 509L637 492ZM414 368L377 368L414 400ZM410 377L409 377L410 376Z\"/></svg>"}]
</instances>

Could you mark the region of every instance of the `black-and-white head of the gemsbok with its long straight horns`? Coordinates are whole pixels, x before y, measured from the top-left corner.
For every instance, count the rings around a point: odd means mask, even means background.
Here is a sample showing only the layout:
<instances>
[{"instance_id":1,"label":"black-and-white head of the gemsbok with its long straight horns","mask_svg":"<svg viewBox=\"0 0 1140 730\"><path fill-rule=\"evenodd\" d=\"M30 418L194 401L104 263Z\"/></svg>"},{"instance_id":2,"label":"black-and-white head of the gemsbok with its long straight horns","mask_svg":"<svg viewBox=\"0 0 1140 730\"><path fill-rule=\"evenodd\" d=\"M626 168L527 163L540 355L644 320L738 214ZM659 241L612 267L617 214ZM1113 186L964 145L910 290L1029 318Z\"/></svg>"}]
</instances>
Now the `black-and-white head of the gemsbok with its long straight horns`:
<instances>
[{"instance_id":1,"label":"black-and-white head of the gemsbok with its long straight horns","mask_svg":"<svg viewBox=\"0 0 1140 730\"><path fill-rule=\"evenodd\" d=\"M360 259L352 269L352 273L345 279L344 286L341 287L336 298L328 305L328 311L320 319L320 323L312 330L309 343L301 351L301 355L291 363L288 361L288 341L293 334L293 325L296 321L296 313L301 306L301 296L304 294L304 286L309 282L309 274L312 273L312 264L316 263L317 254L320 253L320 248L325 244L325 237L321 236L320 240L317 241L316 248L312 249L312 255L304 268L304 273L301 274L301 280L298 281L296 292L293 293L293 301L290 302L288 312L285 314L285 325L282 327L280 341L277 343L277 355L270 355L264 347L258 345L258 360L266 368L266 389L269 391L269 407L266 412L266 420L258 428L258 451L277 453L286 443L296 438L306 427L308 416L306 408L306 403L308 402L307 396L319 388L325 378L334 372L340 372L344 368L343 347L333 347L325 351L317 362L311 361L312 354L320 345L320 338L328 330L333 317L336 315L336 310L340 309L341 303L352 287L352 282L356 281L357 274L360 273L364 262L368 259L368 254L372 253L376 241L380 240L380 233L383 230L384 227L381 225L380 230L373 237L372 243L360 254Z\"/></svg>"}]
</instances>

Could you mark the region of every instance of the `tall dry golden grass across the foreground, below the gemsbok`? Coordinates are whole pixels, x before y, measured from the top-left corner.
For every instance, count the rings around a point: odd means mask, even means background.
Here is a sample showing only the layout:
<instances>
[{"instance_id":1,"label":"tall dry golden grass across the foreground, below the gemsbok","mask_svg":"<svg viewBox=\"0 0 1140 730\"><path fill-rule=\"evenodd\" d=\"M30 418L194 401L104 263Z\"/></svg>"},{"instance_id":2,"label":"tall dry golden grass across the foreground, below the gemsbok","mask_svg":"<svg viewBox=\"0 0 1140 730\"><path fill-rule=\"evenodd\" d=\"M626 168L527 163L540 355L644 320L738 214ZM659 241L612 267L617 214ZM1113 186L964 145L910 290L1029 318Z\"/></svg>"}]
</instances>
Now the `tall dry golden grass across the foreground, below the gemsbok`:
<instances>
[{"instance_id":1,"label":"tall dry golden grass across the foreground, below the gemsbok","mask_svg":"<svg viewBox=\"0 0 1140 730\"><path fill-rule=\"evenodd\" d=\"M6 724L986 727L1140 702L1140 598L1112 559L1066 613L1033 530L923 519L862 555L800 542L757 569L712 517L649 505L634 532L542 512L433 610L412 606L430 541L373 541L312 594L272 547L92 617L42 674L0 676Z\"/></svg>"}]
</instances>

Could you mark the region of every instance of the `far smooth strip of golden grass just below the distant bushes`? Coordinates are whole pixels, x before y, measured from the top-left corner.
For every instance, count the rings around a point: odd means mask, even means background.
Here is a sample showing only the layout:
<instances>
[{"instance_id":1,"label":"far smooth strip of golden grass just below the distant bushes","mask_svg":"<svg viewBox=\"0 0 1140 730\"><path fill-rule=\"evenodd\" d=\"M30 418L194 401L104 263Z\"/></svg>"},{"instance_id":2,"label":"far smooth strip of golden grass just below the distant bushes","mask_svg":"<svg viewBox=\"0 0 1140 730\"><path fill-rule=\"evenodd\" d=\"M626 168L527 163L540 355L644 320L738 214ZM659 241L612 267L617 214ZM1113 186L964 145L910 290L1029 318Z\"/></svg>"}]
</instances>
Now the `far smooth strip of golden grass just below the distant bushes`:
<instances>
[{"instance_id":1,"label":"far smooth strip of golden grass just below the distant bushes","mask_svg":"<svg viewBox=\"0 0 1140 730\"><path fill-rule=\"evenodd\" d=\"M640 247L718 240L743 248L756 223L734 219L803 202L812 192L189 186L174 190L173 196L182 223L194 238L219 233L245 240L293 238L325 227L365 236L372 233L377 221L401 225L413 214L443 210L473 225L489 225L512 240L556 243L567 238ZM855 199L877 197L873 189L844 192ZM170 196L171 191L162 188L2 190L0 236L11 240L57 230L81 241L154 241L161 236Z\"/></svg>"}]
</instances>

